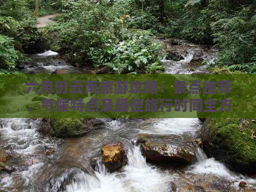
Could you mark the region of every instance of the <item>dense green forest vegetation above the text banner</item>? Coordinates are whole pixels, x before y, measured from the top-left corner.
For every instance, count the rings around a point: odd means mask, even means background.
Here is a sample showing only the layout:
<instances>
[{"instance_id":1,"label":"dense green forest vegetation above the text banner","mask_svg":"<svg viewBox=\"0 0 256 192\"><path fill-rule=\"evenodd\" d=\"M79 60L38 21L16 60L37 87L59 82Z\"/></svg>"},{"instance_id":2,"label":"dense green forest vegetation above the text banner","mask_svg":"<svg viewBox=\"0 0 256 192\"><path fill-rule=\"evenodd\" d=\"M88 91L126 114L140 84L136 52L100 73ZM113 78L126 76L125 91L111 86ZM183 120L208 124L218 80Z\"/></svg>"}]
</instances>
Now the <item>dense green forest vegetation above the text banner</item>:
<instances>
[{"instance_id":1,"label":"dense green forest vegetation above the text banner","mask_svg":"<svg viewBox=\"0 0 256 192\"><path fill-rule=\"evenodd\" d=\"M162 69L159 38L218 44L216 66L256 73L255 0L39 0L39 15L61 13L39 32L32 0L0 0L0 68L13 68L24 46L46 38L78 66L116 73Z\"/></svg>"}]
</instances>

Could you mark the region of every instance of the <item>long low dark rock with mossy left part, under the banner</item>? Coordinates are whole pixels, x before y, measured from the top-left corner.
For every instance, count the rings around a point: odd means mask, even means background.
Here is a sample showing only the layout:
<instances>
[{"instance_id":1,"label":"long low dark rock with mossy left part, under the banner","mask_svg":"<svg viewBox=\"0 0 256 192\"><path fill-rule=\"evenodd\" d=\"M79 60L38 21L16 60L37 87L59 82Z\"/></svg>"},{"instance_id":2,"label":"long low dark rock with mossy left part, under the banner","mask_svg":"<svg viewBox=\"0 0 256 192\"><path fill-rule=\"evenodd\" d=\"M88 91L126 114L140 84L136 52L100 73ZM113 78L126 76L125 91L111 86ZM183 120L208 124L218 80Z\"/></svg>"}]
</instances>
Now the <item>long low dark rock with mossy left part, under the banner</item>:
<instances>
[{"instance_id":1,"label":"long low dark rock with mossy left part, under the banner","mask_svg":"<svg viewBox=\"0 0 256 192\"><path fill-rule=\"evenodd\" d=\"M96 118L43 118L38 131L58 138L80 137L104 125Z\"/></svg>"}]
</instances>

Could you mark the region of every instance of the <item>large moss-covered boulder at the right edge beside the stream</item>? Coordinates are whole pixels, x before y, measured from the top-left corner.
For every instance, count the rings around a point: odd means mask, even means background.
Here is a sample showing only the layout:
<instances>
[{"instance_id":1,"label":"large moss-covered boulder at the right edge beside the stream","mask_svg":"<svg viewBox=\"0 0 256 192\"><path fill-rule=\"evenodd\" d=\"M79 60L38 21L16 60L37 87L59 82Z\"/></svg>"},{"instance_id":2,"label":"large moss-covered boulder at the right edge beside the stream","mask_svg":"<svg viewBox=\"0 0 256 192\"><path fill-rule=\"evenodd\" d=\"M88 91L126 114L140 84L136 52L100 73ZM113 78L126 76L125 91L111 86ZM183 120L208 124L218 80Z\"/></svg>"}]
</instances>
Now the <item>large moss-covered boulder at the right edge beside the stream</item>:
<instances>
[{"instance_id":1,"label":"large moss-covered boulder at the right edge beside the stream","mask_svg":"<svg viewBox=\"0 0 256 192\"><path fill-rule=\"evenodd\" d=\"M255 173L256 126L250 119L207 118L202 128L208 156L239 172Z\"/></svg>"}]
</instances>

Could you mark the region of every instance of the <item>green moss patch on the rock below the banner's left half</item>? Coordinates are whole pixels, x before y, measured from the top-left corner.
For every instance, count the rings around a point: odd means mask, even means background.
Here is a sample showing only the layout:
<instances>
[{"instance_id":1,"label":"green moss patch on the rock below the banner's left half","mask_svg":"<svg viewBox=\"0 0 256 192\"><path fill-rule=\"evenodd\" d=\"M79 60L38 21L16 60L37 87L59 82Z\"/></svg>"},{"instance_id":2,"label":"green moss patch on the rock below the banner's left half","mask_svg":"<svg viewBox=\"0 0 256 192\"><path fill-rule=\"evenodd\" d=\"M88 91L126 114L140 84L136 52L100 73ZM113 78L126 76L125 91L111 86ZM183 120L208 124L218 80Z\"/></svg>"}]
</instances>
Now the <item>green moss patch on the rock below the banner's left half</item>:
<instances>
[{"instance_id":1,"label":"green moss patch on the rock below the banner's left half","mask_svg":"<svg viewBox=\"0 0 256 192\"><path fill-rule=\"evenodd\" d=\"M72 137L83 128L80 118L52 118L50 124L50 134L62 138Z\"/></svg>"}]
</instances>

